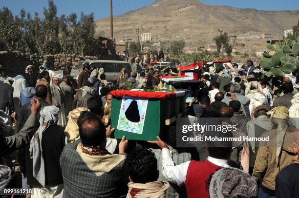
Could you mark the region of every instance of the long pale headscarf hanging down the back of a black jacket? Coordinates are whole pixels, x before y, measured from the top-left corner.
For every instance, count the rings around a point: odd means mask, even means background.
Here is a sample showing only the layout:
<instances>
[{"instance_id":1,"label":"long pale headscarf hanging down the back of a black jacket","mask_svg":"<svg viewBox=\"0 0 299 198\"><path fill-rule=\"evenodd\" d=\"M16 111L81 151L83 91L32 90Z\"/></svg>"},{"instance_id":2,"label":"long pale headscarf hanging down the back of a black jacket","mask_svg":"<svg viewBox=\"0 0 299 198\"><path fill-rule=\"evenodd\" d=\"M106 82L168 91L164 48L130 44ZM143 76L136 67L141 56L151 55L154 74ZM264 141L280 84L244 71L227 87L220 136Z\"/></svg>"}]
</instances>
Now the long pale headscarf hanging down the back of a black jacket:
<instances>
[{"instance_id":1,"label":"long pale headscarf hanging down the back of a black jacket","mask_svg":"<svg viewBox=\"0 0 299 198\"><path fill-rule=\"evenodd\" d=\"M45 169L44 169L44 157L43 157L43 132L49 127L57 124L59 109L56 106L46 106L40 111L40 127L34 133L30 141L30 158L33 159L33 177L36 178L39 183L45 186Z\"/></svg>"}]
</instances>

